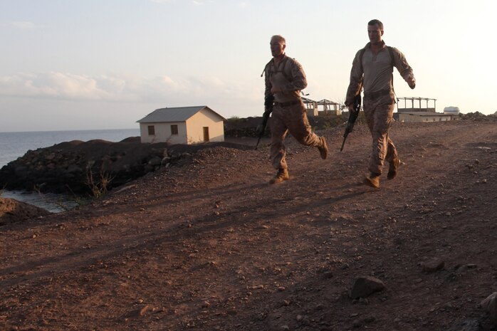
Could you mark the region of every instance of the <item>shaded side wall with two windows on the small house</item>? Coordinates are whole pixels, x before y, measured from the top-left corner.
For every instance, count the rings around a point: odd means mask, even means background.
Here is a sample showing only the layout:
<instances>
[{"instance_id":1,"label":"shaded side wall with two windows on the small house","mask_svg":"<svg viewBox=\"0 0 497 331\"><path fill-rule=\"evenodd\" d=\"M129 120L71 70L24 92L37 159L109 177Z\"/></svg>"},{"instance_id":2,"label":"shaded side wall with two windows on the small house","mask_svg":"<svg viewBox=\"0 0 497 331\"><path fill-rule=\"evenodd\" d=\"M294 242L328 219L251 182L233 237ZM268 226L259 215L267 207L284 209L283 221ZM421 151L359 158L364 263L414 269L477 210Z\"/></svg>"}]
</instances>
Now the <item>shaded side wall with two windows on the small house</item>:
<instances>
[{"instance_id":1,"label":"shaded side wall with two windows on the small house","mask_svg":"<svg viewBox=\"0 0 497 331\"><path fill-rule=\"evenodd\" d=\"M155 127L155 135L148 135L148 127ZM178 134L171 134L171 125L178 126ZM140 123L140 142L169 142L171 144L187 143L187 125L185 122Z\"/></svg>"}]
</instances>

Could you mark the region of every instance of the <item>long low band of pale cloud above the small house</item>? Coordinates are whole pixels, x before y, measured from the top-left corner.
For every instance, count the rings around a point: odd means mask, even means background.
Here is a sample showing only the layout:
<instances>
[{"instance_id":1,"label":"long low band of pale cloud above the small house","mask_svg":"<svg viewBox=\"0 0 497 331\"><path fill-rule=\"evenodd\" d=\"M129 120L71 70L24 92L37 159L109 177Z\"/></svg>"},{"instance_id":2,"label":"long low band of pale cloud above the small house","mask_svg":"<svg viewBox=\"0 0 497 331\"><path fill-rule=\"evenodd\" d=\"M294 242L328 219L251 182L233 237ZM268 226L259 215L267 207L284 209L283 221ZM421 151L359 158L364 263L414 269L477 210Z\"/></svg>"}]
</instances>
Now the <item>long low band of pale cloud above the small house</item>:
<instances>
[{"instance_id":1,"label":"long low band of pale cloud above the small house","mask_svg":"<svg viewBox=\"0 0 497 331\"><path fill-rule=\"evenodd\" d=\"M19 73L0 76L0 96L107 102L209 103L219 99L250 100L250 85L217 77L172 78L160 75L76 75L73 73Z\"/></svg>"}]
</instances>

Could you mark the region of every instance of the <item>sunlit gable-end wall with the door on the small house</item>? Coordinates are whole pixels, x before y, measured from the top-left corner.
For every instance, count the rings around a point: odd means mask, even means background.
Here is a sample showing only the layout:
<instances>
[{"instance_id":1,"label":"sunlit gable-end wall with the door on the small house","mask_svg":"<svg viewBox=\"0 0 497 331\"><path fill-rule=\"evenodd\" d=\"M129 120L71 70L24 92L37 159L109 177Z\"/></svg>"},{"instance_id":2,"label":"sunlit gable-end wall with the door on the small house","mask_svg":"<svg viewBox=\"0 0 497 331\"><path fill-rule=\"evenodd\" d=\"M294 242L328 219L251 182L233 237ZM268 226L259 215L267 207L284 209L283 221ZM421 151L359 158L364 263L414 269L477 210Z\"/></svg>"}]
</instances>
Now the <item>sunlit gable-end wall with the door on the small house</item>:
<instances>
[{"instance_id":1,"label":"sunlit gable-end wall with the door on the small house","mask_svg":"<svg viewBox=\"0 0 497 331\"><path fill-rule=\"evenodd\" d=\"M204 127L209 127L209 142L224 142L224 122L205 108L187 120L187 143L204 142Z\"/></svg>"}]
</instances>

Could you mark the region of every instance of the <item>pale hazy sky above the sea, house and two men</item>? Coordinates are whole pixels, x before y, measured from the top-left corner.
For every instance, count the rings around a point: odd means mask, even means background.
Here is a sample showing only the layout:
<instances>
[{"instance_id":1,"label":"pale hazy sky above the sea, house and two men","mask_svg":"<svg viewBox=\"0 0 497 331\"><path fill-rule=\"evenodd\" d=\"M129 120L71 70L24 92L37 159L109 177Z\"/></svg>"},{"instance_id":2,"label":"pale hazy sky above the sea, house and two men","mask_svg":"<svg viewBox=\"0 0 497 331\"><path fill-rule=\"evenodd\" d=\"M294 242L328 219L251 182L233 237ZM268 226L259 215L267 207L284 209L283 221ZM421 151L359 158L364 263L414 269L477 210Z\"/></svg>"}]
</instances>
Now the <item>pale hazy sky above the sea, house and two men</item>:
<instances>
[{"instance_id":1,"label":"pale hazy sky above the sea, house and two men","mask_svg":"<svg viewBox=\"0 0 497 331\"><path fill-rule=\"evenodd\" d=\"M397 97L497 111L495 0L0 0L0 132L137 128L161 107L260 116L274 34L342 103L367 22L414 69ZM403 104L402 104L403 105Z\"/></svg>"}]
</instances>

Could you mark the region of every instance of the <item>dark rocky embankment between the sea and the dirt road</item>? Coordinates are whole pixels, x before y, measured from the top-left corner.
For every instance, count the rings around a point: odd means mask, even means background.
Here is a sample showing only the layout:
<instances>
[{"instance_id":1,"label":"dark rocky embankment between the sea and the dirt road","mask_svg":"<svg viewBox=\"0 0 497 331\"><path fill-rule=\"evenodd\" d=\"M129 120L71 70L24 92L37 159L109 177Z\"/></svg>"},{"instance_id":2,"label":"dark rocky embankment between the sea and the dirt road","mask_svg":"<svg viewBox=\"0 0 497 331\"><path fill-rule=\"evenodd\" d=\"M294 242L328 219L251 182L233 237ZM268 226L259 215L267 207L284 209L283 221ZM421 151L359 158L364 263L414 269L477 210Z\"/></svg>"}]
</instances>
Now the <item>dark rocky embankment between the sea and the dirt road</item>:
<instances>
[{"instance_id":1,"label":"dark rocky embankment between the sea and the dirt road","mask_svg":"<svg viewBox=\"0 0 497 331\"><path fill-rule=\"evenodd\" d=\"M187 162L206 147L244 149L228 142L199 145L142 144L139 137L121 142L74 140L29 150L0 169L0 187L71 194L93 194L95 189L121 186L162 167ZM102 192L105 193L105 192Z\"/></svg>"}]
</instances>

